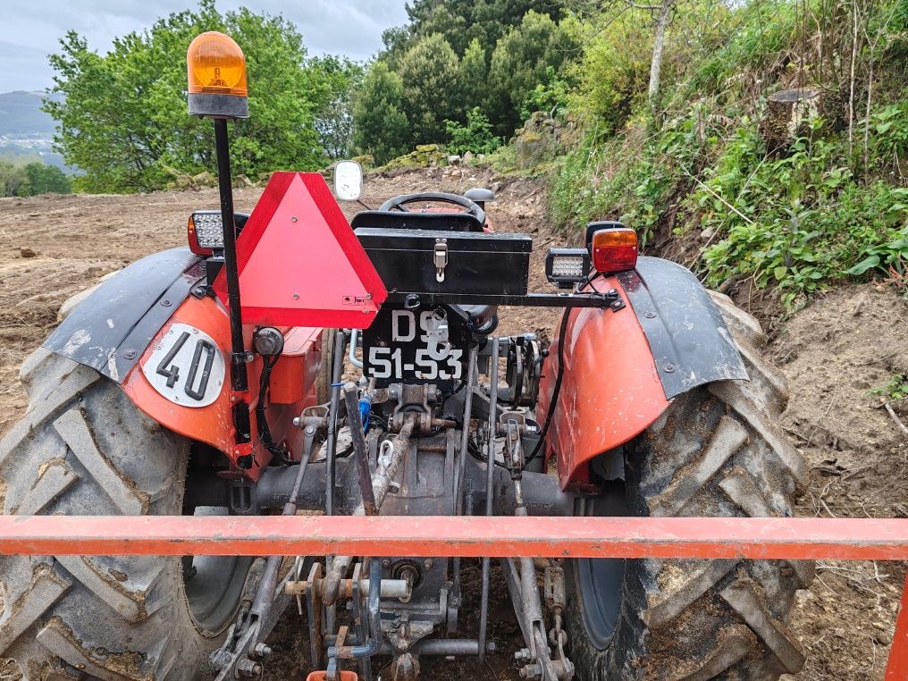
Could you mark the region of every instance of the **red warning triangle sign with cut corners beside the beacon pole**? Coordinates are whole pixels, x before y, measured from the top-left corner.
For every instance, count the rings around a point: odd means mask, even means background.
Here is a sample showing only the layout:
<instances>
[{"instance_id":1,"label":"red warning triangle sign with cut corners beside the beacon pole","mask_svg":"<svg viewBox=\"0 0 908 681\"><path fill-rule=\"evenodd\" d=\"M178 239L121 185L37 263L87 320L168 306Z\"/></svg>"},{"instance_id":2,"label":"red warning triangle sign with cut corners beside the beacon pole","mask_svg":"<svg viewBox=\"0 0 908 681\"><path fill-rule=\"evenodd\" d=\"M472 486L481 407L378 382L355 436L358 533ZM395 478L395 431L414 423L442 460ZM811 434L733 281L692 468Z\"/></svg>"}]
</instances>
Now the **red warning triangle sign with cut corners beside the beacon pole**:
<instances>
[{"instance_id":1,"label":"red warning triangle sign with cut corners beside the beacon pole","mask_svg":"<svg viewBox=\"0 0 908 681\"><path fill-rule=\"evenodd\" d=\"M319 173L274 173L236 244L244 324L365 329L388 297ZM214 291L227 304L223 271Z\"/></svg>"}]
</instances>

